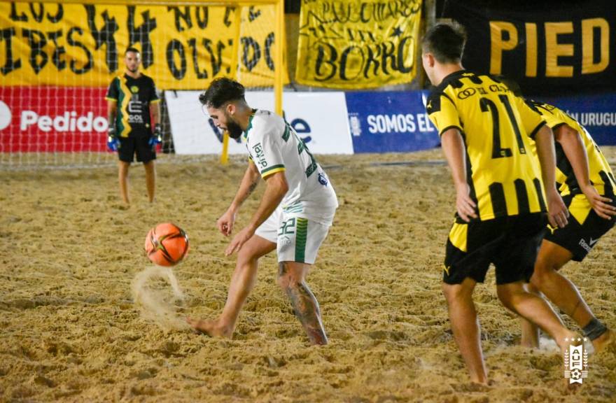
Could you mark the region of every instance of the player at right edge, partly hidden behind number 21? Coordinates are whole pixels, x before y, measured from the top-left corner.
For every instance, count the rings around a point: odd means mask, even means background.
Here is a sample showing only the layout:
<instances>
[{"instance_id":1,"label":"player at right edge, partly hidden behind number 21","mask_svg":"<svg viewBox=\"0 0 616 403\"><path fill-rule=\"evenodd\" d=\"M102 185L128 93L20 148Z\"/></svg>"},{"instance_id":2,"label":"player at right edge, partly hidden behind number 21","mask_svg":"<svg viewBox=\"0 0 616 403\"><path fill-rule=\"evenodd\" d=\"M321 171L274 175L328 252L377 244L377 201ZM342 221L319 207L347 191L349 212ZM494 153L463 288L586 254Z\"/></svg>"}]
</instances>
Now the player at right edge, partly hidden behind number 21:
<instances>
[{"instance_id":1,"label":"player at right edge, partly hidden behind number 21","mask_svg":"<svg viewBox=\"0 0 616 403\"><path fill-rule=\"evenodd\" d=\"M590 134L575 119L550 104L531 100L526 100L526 104L554 131L556 183L570 212L566 227L546 231L529 289L542 292L575 320L595 351L599 351L615 341L615 337L559 269L570 260L581 262L598 239L614 226L614 174ZM538 329L529 323L522 327L522 344L538 346Z\"/></svg>"}]
</instances>

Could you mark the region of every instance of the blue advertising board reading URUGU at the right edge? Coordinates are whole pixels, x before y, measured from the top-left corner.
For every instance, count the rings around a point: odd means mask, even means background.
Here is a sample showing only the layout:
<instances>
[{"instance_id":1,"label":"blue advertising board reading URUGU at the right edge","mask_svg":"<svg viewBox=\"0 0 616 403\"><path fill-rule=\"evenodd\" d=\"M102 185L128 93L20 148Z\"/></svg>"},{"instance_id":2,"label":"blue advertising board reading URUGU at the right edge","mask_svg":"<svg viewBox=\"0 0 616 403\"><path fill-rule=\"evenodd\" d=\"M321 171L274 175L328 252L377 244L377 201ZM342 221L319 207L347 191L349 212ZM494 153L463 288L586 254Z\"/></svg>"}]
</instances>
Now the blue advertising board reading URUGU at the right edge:
<instances>
[{"instance_id":1,"label":"blue advertising board reading URUGU at the right edge","mask_svg":"<svg viewBox=\"0 0 616 403\"><path fill-rule=\"evenodd\" d=\"M568 113L587 129L599 146L616 145L616 94L535 98Z\"/></svg>"}]
</instances>

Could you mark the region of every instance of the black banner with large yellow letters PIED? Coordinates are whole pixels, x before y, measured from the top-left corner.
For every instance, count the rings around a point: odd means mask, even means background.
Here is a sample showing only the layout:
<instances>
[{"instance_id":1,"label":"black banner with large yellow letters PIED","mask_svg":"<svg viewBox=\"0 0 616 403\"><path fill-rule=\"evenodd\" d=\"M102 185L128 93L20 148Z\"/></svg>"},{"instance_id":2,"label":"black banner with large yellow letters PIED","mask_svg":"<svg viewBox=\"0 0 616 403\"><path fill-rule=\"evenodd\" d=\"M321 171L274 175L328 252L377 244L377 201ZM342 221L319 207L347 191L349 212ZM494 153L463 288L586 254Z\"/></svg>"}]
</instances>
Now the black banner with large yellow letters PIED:
<instances>
[{"instance_id":1,"label":"black banner with large yellow letters PIED","mask_svg":"<svg viewBox=\"0 0 616 403\"><path fill-rule=\"evenodd\" d=\"M610 0L445 3L468 32L463 65L518 81L525 94L616 90L616 13Z\"/></svg>"}]
</instances>

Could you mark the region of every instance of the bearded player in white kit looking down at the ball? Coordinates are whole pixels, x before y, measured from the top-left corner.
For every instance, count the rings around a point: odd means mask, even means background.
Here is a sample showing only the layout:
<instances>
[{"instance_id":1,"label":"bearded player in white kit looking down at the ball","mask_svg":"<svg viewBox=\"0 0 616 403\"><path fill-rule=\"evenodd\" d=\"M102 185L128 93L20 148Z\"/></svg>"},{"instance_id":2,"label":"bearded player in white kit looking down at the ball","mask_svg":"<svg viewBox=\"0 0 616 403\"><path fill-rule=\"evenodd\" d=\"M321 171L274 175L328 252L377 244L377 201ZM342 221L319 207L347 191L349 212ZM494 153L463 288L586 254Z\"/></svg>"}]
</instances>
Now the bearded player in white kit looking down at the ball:
<instances>
[{"instance_id":1,"label":"bearded player in white kit looking down at the ball","mask_svg":"<svg viewBox=\"0 0 616 403\"><path fill-rule=\"evenodd\" d=\"M229 243L226 255L237 252L227 302L215 320L188 318L196 330L213 337L231 337L241 306L255 284L260 257L276 249L278 284L290 298L311 344L327 344L316 298L305 277L327 236L337 197L328 176L292 127L279 115L246 104L244 87L218 78L200 95L216 126L248 148L248 168L218 229L232 233L242 202L263 178L265 192L253 216Z\"/></svg>"}]
</instances>

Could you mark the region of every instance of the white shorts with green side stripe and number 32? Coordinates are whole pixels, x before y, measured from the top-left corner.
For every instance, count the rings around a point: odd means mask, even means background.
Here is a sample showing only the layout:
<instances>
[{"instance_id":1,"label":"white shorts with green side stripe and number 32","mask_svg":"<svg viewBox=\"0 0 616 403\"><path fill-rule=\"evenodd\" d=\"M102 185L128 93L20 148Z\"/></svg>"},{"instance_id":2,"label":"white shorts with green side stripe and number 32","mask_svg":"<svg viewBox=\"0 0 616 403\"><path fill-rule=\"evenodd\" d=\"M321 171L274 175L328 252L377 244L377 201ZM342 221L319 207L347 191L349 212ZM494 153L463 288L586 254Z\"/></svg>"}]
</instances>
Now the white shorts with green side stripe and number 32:
<instances>
[{"instance_id":1,"label":"white shorts with green side stripe and number 32","mask_svg":"<svg viewBox=\"0 0 616 403\"><path fill-rule=\"evenodd\" d=\"M278 206L257 228L255 234L276 243L278 262L314 264L318 248L327 236L330 225L285 213Z\"/></svg>"}]
</instances>

